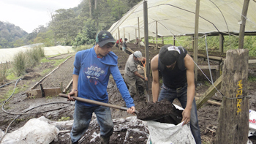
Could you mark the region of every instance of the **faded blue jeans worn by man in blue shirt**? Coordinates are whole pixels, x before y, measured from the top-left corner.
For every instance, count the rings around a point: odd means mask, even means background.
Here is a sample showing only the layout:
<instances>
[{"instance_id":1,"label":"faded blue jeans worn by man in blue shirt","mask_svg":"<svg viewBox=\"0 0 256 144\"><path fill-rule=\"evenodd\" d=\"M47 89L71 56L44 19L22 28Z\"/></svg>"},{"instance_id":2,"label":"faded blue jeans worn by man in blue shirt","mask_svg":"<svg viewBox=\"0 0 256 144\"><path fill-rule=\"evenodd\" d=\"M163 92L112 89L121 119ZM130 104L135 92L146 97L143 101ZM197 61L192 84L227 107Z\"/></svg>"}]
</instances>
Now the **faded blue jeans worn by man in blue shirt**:
<instances>
[{"instance_id":1,"label":"faded blue jeans worn by man in blue shirt","mask_svg":"<svg viewBox=\"0 0 256 144\"><path fill-rule=\"evenodd\" d=\"M86 133L91 121L92 113L97 115L97 121L100 127L100 136L110 137L112 135L114 124L112 121L110 107L86 107L84 105L79 105L76 102L75 112L73 115L74 123L70 132L72 143L78 142L78 140Z\"/></svg>"}]
</instances>

